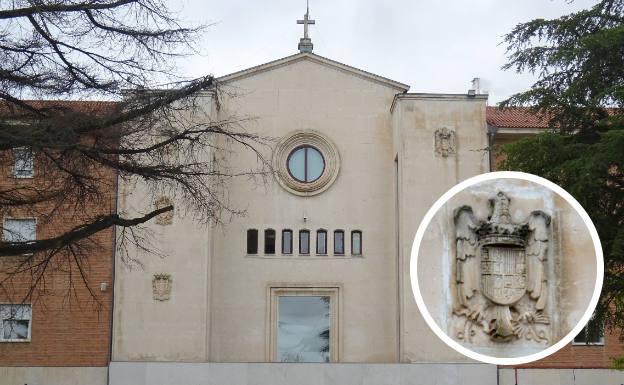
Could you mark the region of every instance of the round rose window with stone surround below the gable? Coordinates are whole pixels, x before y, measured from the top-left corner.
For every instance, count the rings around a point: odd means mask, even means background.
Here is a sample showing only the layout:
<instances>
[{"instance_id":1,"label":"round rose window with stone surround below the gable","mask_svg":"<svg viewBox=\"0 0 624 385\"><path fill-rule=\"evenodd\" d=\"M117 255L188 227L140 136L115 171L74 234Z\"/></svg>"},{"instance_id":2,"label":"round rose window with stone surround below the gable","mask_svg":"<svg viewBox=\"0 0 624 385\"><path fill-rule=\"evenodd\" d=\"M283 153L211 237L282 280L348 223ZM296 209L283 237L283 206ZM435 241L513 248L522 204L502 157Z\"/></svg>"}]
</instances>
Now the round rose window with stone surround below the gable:
<instances>
[{"instance_id":1,"label":"round rose window with stone surround below the gable","mask_svg":"<svg viewBox=\"0 0 624 385\"><path fill-rule=\"evenodd\" d=\"M325 191L338 176L336 146L317 131L295 131L275 148L273 166L278 182L296 195Z\"/></svg>"}]
</instances>

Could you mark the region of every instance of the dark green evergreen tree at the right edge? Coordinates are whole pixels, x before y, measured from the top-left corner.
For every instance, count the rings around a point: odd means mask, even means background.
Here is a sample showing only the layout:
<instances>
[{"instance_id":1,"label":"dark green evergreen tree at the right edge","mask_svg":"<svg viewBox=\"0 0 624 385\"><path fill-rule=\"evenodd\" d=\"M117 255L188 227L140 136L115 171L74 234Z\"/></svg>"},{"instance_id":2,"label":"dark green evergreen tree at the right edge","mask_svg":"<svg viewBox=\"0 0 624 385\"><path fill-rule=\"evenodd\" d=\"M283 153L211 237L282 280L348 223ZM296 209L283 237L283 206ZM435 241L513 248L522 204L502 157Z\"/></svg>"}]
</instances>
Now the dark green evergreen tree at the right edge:
<instances>
[{"instance_id":1,"label":"dark green evergreen tree at the right edge","mask_svg":"<svg viewBox=\"0 0 624 385\"><path fill-rule=\"evenodd\" d=\"M551 130L503 146L501 168L547 178L592 218L605 257L605 280L589 329L624 328L624 0L553 20L519 24L505 36L505 69L538 75L501 108L525 106Z\"/></svg>"}]
</instances>

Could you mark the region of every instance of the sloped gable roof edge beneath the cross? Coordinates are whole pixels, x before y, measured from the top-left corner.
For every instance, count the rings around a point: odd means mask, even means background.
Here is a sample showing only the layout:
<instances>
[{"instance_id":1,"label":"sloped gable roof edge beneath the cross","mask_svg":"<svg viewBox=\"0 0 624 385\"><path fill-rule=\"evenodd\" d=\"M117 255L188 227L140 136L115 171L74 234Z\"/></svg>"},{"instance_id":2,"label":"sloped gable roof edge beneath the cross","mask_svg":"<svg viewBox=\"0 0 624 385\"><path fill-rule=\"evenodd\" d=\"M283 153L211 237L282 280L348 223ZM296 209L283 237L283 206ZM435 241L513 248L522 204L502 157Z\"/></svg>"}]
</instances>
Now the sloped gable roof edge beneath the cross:
<instances>
[{"instance_id":1,"label":"sloped gable roof edge beneath the cross","mask_svg":"<svg viewBox=\"0 0 624 385\"><path fill-rule=\"evenodd\" d=\"M396 80L388 79L383 76L375 75L371 72L367 72L359 68L351 67L349 65L337 62L335 60L328 59L326 57L317 55L315 53L307 53L307 52L297 53L295 55L287 56L281 59L270 61L268 63L260 64L255 67L251 67L242 71L234 72L229 75L220 76L217 80L225 83L225 82L229 82L232 80L237 80L237 79L245 78L245 77L252 76L258 73L262 73L265 71L270 71L272 69L279 68L288 64L292 64L301 60L309 60L315 63L327 65L329 67L333 67L341 71L349 72L353 75L362 77L364 79L368 79L377 83L384 84L386 86L395 88L402 92L406 92L407 90L409 90L409 85L407 84L398 82Z\"/></svg>"}]
</instances>

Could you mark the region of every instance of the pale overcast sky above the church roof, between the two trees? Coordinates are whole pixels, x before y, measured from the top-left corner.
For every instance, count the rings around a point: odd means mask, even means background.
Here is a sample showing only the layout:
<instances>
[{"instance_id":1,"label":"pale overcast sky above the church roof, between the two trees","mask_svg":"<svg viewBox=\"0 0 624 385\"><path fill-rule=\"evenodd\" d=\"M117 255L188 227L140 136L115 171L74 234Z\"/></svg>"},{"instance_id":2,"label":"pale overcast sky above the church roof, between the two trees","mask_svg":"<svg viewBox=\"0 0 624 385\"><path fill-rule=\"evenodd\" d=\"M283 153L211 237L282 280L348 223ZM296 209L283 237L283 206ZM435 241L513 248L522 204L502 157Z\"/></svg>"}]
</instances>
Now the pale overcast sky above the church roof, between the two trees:
<instances>
[{"instance_id":1,"label":"pale overcast sky above the church roof, between the two trees","mask_svg":"<svg viewBox=\"0 0 624 385\"><path fill-rule=\"evenodd\" d=\"M503 71L503 35L534 18L554 18L595 1L310 0L314 52L397 80L411 92L464 93L474 77L495 104L533 83ZM214 23L187 76L225 75L297 52L305 0L183 0L172 8L192 23Z\"/></svg>"}]
</instances>

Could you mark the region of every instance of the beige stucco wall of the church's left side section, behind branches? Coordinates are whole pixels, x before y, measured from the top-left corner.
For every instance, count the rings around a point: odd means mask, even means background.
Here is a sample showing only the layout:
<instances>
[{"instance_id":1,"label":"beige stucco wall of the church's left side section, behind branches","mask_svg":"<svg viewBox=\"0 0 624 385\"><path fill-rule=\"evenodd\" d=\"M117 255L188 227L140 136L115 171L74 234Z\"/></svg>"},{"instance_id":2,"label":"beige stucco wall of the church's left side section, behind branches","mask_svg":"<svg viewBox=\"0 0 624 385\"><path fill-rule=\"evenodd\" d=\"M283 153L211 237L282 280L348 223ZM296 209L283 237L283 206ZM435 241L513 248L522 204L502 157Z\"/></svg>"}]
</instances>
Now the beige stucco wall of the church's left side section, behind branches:
<instances>
[{"instance_id":1,"label":"beige stucco wall of the church's left side section, behind branches","mask_svg":"<svg viewBox=\"0 0 624 385\"><path fill-rule=\"evenodd\" d=\"M212 99L202 96L206 113ZM186 116L185 118L189 118ZM200 159L210 159L208 149ZM155 200L174 204L170 225L151 220L135 229L152 253L137 250L134 236L117 229L112 359L119 361L205 361L208 359L211 230L194 220L175 191L119 180L118 211L135 217L154 209ZM126 239L122 243L122 239ZM153 299L154 274L171 274L168 301Z\"/></svg>"}]
</instances>

